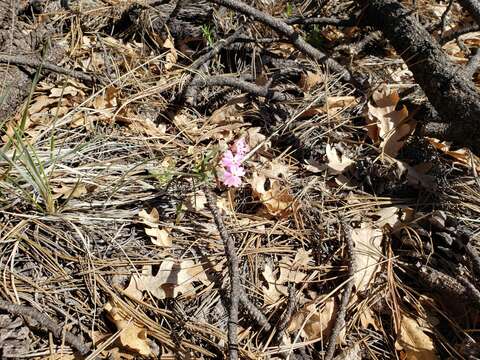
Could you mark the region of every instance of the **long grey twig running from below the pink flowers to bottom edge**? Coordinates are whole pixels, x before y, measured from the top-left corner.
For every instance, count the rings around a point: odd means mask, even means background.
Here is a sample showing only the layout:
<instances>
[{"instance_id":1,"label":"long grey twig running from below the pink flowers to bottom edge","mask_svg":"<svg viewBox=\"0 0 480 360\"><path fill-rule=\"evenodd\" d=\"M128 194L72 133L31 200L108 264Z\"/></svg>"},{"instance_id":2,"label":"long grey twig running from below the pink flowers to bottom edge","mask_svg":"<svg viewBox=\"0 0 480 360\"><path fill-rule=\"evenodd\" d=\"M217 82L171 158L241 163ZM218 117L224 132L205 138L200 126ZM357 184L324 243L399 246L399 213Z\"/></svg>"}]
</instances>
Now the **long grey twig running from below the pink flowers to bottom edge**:
<instances>
[{"instance_id":1,"label":"long grey twig running from below the pink flowers to bottom edge","mask_svg":"<svg viewBox=\"0 0 480 360\"><path fill-rule=\"evenodd\" d=\"M241 293L239 261L235 242L227 231L222 216L216 205L216 196L209 188L204 188L205 197L207 198L208 207L213 215L215 224L217 225L220 237L225 247L225 255L228 259L228 272L230 275L230 306L228 309L228 353L229 359L238 359L238 342L237 342L237 323L238 323L238 304Z\"/></svg>"}]
</instances>

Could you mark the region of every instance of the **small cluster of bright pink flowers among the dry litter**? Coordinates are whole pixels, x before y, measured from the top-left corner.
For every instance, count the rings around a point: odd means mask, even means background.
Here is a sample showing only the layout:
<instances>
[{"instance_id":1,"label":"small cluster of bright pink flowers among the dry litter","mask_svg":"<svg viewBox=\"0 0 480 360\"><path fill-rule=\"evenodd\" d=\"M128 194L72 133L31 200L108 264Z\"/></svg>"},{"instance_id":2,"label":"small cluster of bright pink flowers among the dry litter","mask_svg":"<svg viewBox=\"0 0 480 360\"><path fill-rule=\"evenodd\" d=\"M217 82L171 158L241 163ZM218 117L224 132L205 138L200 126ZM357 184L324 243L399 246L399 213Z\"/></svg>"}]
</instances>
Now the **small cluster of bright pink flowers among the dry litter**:
<instances>
[{"instance_id":1,"label":"small cluster of bright pink flowers among the dry litter","mask_svg":"<svg viewBox=\"0 0 480 360\"><path fill-rule=\"evenodd\" d=\"M227 150L220 163L224 168L222 175L222 182L230 187L239 187L242 183L242 176L245 175L245 169L242 167L242 162L245 160L245 156L249 147L245 142L245 139L238 139L235 141L231 150Z\"/></svg>"}]
</instances>

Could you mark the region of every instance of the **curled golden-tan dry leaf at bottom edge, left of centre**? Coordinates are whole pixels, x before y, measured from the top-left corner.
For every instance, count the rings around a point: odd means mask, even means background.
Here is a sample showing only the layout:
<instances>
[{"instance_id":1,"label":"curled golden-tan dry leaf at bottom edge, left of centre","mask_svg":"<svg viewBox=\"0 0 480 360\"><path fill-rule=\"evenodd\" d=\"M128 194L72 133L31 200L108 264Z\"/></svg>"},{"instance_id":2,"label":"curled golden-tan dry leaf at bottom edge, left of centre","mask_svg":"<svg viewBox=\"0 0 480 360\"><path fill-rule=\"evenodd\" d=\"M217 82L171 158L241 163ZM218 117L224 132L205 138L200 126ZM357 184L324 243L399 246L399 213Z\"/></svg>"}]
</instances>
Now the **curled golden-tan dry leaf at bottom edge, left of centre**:
<instances>
[{"instance_id":1,"label":"curled golden-tan dry leaf at bottom edge, left of centre","mask_svg":"<svg viewBox=\"0 0 480 360\"><path fill-rule=\"evenodd\" d=\"M137 326L132 320L127 320L126 314L110 301L104 307L110 320L115 324L120 333L120 343L129 350L142 356L149 356L152 349L148 345L147 331Z\"/></svg>"}]
</instances>

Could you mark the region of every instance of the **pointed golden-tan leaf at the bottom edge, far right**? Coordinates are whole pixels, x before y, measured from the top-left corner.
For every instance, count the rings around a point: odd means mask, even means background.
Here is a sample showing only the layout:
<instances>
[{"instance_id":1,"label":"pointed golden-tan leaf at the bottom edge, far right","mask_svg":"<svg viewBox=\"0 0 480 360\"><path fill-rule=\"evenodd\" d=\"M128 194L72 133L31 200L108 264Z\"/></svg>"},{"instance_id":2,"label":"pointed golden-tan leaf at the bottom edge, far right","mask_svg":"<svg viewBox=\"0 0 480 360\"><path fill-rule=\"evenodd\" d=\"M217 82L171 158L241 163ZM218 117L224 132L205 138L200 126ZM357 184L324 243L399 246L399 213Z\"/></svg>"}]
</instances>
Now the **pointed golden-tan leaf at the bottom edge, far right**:
<instances>
[{"instance_id":1,"label":"pointed golden-tan leaf at the bottom edge, far right","mask_svg":"<svg viewBox=\"0 0 480 360\"><path fill-rule=\"evenodd\" d=\"M432 339L425 334L418 321L402 314L400 333L397 334L395 348L403 351L404 359L434 360L438 359Z\"/></svg>"}]
</instances>

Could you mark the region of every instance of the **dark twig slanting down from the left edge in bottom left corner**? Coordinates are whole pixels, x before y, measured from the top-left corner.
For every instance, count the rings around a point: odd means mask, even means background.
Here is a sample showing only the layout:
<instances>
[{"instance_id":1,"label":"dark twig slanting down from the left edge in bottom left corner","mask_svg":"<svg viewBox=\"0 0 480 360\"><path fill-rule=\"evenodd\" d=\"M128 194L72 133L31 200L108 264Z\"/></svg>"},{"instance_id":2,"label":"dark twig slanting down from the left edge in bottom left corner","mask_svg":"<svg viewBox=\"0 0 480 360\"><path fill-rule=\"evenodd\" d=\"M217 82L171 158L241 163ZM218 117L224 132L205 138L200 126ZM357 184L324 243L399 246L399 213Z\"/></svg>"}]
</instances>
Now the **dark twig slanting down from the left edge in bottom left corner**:
<instances>
[{"instance_id":1,"label":"dark twig slanting down from the left edge in bottom left corner","mask_svg":"<svg viewBox=\"0 0 480 360\"><path fill-rule=\"evenodd\" d=\"M65 330L62 326L56 324L47 315L40 311L24 305L12 304L7 301L0 300L0 309L8 311L10 314L23 316L27 322L35 320L39 327L46 328L57 339L65 339L65 342L75 348L80 354L85 355L90 351L90 346L84 344L77 335Z\"/></svg>"}]
</instances>

